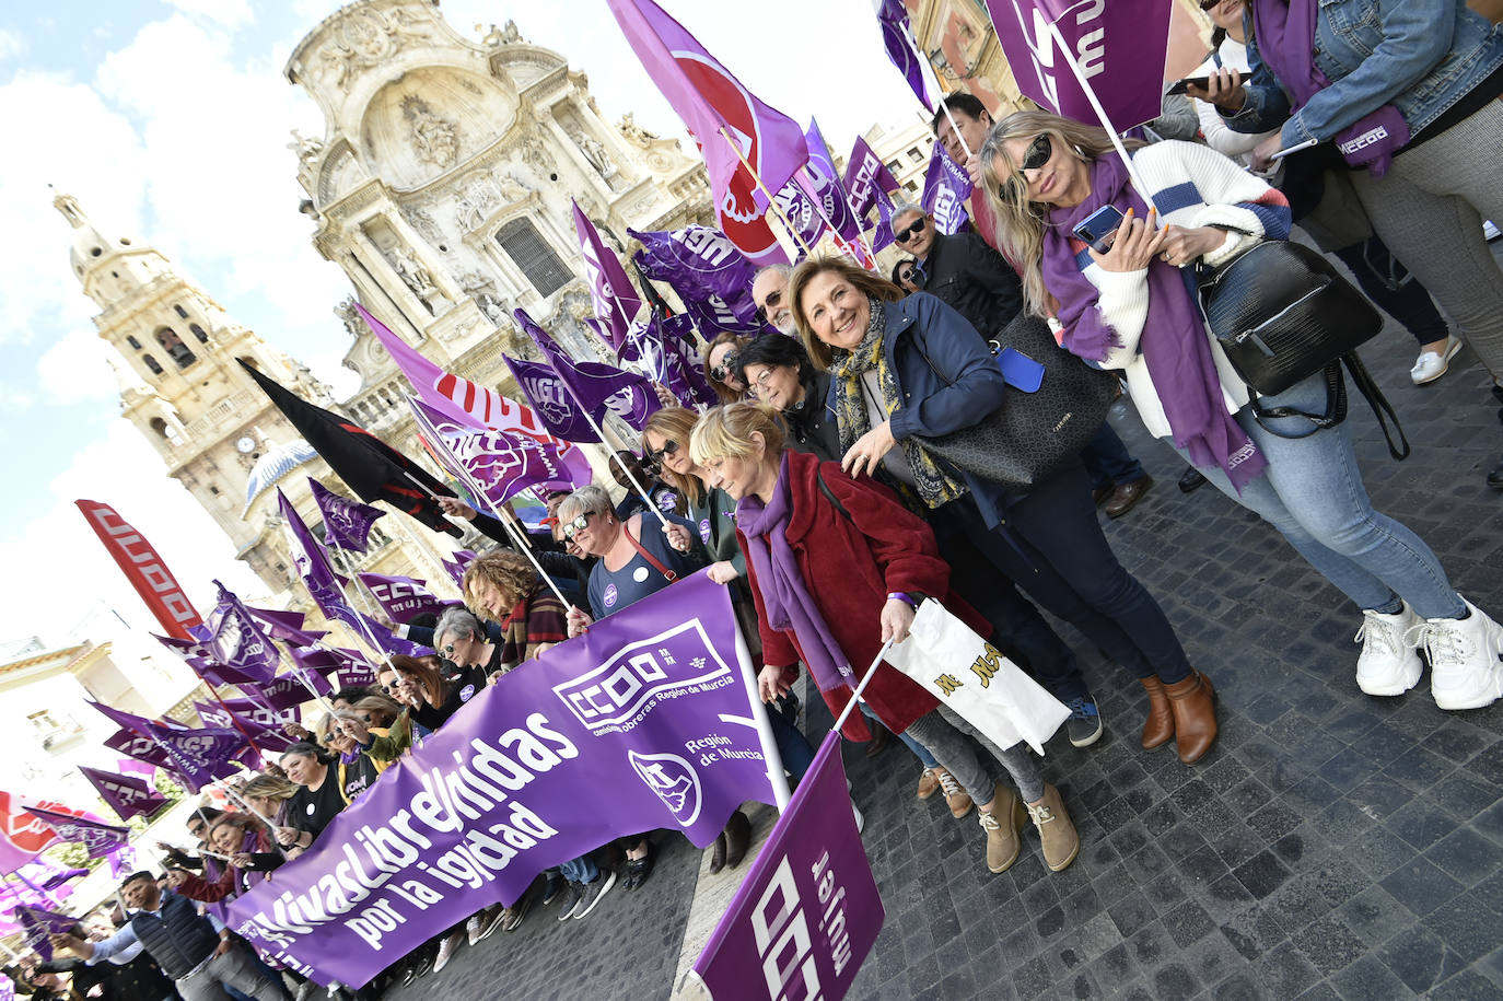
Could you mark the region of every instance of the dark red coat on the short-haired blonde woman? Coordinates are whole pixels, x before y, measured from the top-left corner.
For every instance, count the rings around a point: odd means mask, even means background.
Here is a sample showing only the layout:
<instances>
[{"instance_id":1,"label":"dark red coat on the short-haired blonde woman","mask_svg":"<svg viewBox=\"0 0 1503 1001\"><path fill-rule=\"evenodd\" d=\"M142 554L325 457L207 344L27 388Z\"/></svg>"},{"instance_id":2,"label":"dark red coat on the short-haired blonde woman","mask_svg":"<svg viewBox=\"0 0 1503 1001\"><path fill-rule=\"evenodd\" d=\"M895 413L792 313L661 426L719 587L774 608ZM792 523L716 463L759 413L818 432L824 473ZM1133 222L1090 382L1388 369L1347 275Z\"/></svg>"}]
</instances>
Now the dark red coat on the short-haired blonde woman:
<instances>
[{"instance_id":1,"label":"dark red coat on the short-haired blonde woman","mask_svg":"<svg viewBox=\"0 0 1503 1001\"><path fill-rule=\"evenodd\" d=\"M821 476L846 514L819 488ZM798 561L804 586L858 681L882 648L881 613L893 591L936 597L966 625L983 636L990 633L986 619L950 591L950 564L939 558L933 531L891 490L872 479L852 479L839 463L822 463L803 452L788 454L788 478L792 491L788 544ZM736 543L747 549L739 529ZM762 633L762 658L768 664L786 666L788 678L794 679L798 676L797 663L803 660L798 637L768 625L750 556L747 577ZM821 694L839 717L851 700L851 691L852 687L840 685ZM885 661L863 697L894 733L938 705L923 687ZM842 732L851 739L870 736L858 711L851 714Z\"/></svg>"}]
</instances>

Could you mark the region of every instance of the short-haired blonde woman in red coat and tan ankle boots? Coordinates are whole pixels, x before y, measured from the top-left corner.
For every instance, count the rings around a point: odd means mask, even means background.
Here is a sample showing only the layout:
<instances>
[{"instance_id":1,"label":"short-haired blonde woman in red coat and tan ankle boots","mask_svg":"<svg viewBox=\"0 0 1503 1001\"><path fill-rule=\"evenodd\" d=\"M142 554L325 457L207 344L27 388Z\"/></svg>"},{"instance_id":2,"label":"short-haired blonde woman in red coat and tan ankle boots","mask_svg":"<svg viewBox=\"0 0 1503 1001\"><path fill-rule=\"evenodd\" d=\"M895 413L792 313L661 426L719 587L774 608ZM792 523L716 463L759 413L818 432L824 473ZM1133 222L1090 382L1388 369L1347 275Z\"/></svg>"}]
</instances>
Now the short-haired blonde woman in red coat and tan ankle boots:
<instances>
[{"instance_id":1,"label":"short-haired blonde woman in red coat and tan ankle boots","mask_svg":"<svg viewBox=\"0 0 1503 1001\"><path fill-rule=\"evenodd\" d=\"M839 715L861 681L855 669L872 663L888 639L908 636L924 597L990 631L950 592L950 567L939 559L929 526L887 487L785 451L773 409L733 403L709 410L694 427L690 454L709 485L738 502L736 541L747 555L767 663L758 678L762 699L788 691L803 661ZM983 739L1018 783L1021 803L1009 786L992 782L956 729L969 729L960 717L900 670L879 664L863 697L888 729L917 739L965 786L986 830L987 869L1003 872L1016 861L1027 816L1039 827L1049 869L1075 861L1081 845L1075 825L1027 747L999 750ZM858 741L869 736L857 712L842 732Z\"/></svg>"}]
</instances>

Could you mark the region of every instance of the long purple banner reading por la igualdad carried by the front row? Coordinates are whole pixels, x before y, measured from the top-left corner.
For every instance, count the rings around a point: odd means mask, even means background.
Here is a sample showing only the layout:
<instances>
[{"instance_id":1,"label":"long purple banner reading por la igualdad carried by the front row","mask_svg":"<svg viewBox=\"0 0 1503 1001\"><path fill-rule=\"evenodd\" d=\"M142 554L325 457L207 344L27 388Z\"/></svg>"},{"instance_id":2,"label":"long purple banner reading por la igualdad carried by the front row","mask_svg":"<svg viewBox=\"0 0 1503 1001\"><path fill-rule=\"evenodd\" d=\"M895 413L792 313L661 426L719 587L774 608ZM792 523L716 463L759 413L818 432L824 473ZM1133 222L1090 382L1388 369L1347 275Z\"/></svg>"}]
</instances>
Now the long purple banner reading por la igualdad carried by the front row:
<instances>
[{"instance_id":1,"label":"long purple banner reading por la igualdad carried by the front row","mask_svg":"<svg viewBox=\"0 0 1503 1001\"><path fill-rule=\"evenodd\" d=\"M729 592L699 573L511 670L237 897L230 927L358 987L422 942L415 926L514 902L612 837L669 827L711 845L742 801L773 801L735 628ZM846 803L840 786L830 809ZM301 917L278 903L310 893L320 906Z\"/></svg>"}]
</instances>

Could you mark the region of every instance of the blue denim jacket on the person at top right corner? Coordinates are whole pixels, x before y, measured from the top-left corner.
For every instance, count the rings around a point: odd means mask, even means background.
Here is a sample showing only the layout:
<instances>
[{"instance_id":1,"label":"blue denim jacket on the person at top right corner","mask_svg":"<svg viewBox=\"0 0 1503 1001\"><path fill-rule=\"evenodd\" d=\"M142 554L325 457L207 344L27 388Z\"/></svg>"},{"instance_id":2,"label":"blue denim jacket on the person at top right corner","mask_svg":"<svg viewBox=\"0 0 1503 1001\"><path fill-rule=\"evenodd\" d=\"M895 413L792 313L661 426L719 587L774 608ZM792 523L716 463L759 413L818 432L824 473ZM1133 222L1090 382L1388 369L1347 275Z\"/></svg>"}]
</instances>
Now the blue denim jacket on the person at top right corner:
<instances>
[{"instance_id":1,"label":"blue denim jacket on the person at top right corner","mask_svg":"<svg viewBox=\"0 0 1503 1001\"><path fill-rule=\"evenodd\" d=\"M1237 114L1223 113L1237 132L1282 125L1288 149L1326 141L1392 104L1419 134L1503 66L1503 29L1468 11L1465 0L1320 0L1315 65L1332 84L1293 114L1255 38L1247 60L1247 102Z\"/></svg>"}]
</instances>

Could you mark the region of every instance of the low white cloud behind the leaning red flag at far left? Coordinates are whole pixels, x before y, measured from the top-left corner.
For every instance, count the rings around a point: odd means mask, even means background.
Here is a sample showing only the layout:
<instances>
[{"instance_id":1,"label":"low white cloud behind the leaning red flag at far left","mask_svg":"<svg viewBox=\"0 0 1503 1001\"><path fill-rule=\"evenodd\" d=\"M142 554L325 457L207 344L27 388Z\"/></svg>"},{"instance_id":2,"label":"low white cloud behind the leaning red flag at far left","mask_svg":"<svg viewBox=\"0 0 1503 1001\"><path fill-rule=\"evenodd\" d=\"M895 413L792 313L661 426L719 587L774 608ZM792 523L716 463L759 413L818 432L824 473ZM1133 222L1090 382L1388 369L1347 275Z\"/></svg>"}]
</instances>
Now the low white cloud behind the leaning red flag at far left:
<instances>
[{"instance_id":1,"label":"low white cloud behind the leaning red flag at far left","mask_svg":"<svg viewBox=\"0 0 1503 1001\"><path fill-rule=\"evenodd\" d=\"M104 601L135 628L155 628L155 619L74 507L77 497L110 504L150 540L200 612L213 604L212 577L248 597L266 591L234 559L228 537L177 481L167 478L161 457L123 419L80 448L45 490L53 500L47 513L24 525L8 525L9 534L0 538L0 567L6 568L0 574L0 636L38 634L59 642L93 601Z\"/></svg>"}]
</instances>

